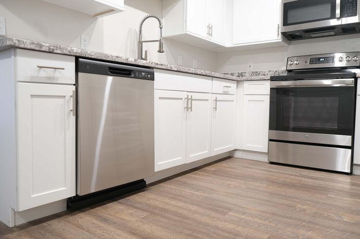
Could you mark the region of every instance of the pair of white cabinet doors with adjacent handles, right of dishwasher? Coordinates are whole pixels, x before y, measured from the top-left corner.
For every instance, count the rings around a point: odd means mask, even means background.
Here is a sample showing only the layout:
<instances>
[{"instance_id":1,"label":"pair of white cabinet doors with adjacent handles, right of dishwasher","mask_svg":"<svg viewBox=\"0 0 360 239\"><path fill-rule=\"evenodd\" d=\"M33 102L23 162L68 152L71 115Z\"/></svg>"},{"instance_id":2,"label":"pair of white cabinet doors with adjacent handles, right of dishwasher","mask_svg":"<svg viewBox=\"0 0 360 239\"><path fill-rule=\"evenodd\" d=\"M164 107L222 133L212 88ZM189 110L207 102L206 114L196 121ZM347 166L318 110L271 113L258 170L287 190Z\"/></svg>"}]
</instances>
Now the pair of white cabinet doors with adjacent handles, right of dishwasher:
<instances>
[{"instance_id":1,"label":"pair of white cabinet doors with adjacent handles, right of dishwasher","mask_svg":"<svg viewBox=\"0 0 360 239\"><path fill-rule=\"evenodd\" d=\"M155 90L155 171L210 157L211 94Z\"/></svg>"}]
</instances>

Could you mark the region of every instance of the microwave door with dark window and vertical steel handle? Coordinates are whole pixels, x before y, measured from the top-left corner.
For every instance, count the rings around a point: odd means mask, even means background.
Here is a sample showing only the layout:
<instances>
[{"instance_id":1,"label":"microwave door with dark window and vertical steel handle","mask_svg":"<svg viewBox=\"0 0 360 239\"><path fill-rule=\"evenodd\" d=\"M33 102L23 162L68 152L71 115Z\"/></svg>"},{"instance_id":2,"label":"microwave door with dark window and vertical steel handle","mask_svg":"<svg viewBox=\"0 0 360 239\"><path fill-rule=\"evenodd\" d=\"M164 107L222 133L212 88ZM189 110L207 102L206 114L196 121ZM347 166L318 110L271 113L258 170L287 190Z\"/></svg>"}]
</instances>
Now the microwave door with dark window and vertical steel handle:
<instances>
[{"instance_id":1,"label":"microwave door with dark window and vertical steel handle","mask_svg":"<svg viewBox=\"0 0 360 239\"><path fill-rule=\"evenodd\" d=\"M349 0L343 0L349 1ZM350 0L356 1L357 0ZM281 32L341 24L341 0L283 0Z\"/></svg>"}]
</instances>

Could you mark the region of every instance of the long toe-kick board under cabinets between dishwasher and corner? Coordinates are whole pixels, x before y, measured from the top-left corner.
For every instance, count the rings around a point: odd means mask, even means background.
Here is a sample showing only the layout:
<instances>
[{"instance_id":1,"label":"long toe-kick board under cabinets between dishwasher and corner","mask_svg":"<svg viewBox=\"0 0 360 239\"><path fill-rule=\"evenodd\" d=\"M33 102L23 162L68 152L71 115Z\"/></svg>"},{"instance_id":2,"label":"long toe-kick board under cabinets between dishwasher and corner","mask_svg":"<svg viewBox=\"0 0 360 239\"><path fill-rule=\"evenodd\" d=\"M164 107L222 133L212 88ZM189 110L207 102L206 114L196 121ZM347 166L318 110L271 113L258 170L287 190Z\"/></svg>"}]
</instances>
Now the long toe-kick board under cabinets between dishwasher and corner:
<instances>
[{"instance_id":1,"label":"long toe-kick board under cabinets between dishwasher and corner","mask_svg":"<svg viewBox=\"0 0 360 239\"><path fill-rule=\"evenodd\" d=\"M199 167L201 165L211 163L213 161L217 161L219 159L223 159L223 158L226 158L226 157L229 157L229 152L219 154L219 155L215 155L215 156L212 156L212 157L209 157L209 158L206 158L206 159L201 159L201 160L189 163L189 164L183 164L183 165L179 165L179 166L176 166L176 167L173 167L173 168L164 169L164 170L155 172L154 176L145 178L145 181L146 181L147 184L152 183L152 182L156 182L158 180L167 178L169 176L172 176L172 175L187 171L189 169L193 169L193 168Z\"/></svg>"}]
</instances>

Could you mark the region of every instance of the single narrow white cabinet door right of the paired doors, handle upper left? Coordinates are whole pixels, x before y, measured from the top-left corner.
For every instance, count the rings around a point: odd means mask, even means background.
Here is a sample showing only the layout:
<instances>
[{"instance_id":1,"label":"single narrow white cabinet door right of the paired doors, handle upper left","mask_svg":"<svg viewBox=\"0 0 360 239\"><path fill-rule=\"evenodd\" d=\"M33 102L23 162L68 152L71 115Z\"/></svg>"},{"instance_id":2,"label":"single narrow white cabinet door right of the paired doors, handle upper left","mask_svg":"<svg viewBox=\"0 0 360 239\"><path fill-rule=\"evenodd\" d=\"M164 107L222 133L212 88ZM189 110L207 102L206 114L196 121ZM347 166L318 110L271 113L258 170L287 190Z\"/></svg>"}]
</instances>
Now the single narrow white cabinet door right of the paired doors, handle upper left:
<instances>
[{"instance_id":1,"label":"single narrow white cabinet door right of the paired doors, handle upper left","mask_svg":"<svg viewBox=\"0 0 360 239\"><path fill-rule=\"evenodd\" d=\"M211 156L234 146L235 95L212 94Z\"/></svg>"}]
</instances>

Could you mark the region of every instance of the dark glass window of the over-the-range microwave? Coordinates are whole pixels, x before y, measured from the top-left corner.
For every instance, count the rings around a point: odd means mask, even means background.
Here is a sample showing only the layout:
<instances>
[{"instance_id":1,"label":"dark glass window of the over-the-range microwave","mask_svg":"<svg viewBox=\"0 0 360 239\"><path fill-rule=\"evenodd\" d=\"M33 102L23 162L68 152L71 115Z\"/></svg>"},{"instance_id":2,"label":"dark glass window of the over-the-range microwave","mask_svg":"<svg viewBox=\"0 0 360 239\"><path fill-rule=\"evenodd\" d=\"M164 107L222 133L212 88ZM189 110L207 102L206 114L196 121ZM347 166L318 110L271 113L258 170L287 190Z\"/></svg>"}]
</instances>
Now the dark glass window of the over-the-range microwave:
<instances>
[{"instance_id":1,"label":"dark glass window of the over-the-range microwave","mask_svg":"<svg viewBox=\"0 0 360 239\"><path fill-rule=\"evenodd\" d=\"M283 25L336 19L336 0L298 0L283 3Z\"/></svg>"}]
</instances>

